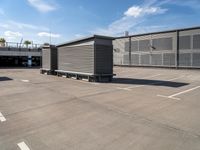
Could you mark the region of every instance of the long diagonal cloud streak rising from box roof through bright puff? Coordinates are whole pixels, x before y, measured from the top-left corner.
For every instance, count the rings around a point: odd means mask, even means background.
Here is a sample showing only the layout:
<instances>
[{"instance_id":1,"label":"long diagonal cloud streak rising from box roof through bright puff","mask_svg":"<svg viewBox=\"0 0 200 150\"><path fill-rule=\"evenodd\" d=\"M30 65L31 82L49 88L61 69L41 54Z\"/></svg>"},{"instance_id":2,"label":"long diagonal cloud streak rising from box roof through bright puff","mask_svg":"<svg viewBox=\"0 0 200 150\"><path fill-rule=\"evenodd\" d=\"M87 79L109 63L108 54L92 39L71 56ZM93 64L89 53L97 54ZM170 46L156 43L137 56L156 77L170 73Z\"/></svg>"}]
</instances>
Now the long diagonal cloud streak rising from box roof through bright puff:
<instances>
[{"instance_id":1,"label":"long diagonal cloud streak rising from box roof through bright puff","mask_svg":"<svg viewBox=\"0 0 200 150\"><path fill-rule=\"evenodd\" d=\"M142 24L150 15L164 14L168 9L161 6L167 2L168 0L162 3L158 0L148 0L140 6L132 6L123 13L120 19L112 22L107 28L97 28L91 33L109 36L122 35L125 31L130 31Z\"/></svg>"}]
</instances>

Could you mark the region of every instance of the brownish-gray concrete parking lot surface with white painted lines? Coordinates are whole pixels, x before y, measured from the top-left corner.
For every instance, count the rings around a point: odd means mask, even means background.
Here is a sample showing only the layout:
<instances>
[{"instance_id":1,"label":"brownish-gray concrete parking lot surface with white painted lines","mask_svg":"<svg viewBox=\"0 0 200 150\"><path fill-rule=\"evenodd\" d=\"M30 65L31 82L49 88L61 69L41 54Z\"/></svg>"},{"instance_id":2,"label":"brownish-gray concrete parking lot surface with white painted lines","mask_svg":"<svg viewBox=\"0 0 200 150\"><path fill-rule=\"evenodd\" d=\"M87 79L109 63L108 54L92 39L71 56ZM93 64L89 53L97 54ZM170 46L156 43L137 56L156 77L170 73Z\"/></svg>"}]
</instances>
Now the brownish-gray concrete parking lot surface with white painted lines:
<instances>
[{"instance_id":1,"label":"brownish-gray concrete parking lot surface with white painted lines","mask_svg":"<svg viewBox=\"0 0 200 150\"><path fill-rule=\"evenodd\" d=\"M200 149L200 70L114 73L92 83L0 69L0 150Z\"/></svg>"}]
</instances>

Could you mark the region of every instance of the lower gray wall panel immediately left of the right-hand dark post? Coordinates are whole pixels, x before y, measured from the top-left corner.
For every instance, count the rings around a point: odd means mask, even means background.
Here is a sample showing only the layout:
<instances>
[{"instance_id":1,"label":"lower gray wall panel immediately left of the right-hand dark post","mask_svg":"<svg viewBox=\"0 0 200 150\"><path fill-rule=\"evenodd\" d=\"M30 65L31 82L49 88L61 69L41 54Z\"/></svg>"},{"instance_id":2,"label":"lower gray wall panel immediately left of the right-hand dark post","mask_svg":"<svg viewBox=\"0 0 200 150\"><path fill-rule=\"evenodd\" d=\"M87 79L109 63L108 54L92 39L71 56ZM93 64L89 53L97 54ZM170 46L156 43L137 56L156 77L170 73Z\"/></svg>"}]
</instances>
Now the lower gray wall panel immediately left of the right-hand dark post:
<instances>
[{"instance_id":1,"label":"lower gray wall panel immediately left of the right-hand dark post","mask_svg":"<svg viewBox=\"0 0 200 150\"><path fill-rule=\"evenodd\" d=\"M163 65L164 66L175 66L176 54L175 53L164 53L163 54Z\"/></svg>"}]
</instances>

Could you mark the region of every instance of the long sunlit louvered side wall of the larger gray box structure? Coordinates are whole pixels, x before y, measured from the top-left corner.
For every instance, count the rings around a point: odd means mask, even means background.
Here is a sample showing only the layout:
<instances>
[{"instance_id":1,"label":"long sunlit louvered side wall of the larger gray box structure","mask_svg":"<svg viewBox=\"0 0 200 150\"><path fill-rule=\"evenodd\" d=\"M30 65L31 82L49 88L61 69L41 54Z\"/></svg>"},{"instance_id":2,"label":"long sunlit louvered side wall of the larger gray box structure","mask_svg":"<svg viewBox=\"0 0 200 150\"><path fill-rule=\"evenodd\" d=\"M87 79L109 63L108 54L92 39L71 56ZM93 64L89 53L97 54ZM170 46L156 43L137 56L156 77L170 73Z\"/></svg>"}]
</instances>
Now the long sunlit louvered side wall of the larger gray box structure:
<instances>
[{"instance_id":1,"label":"long sunlit louvered side wall of the larger gray box structure","mask_svg":"<svg viewBox=\"0 0 200 150\"><path fill-rule=\"evenodd\" d=\"M94 73L94 45L58 48L58 70Z\"/></svg>"}]
</instances>

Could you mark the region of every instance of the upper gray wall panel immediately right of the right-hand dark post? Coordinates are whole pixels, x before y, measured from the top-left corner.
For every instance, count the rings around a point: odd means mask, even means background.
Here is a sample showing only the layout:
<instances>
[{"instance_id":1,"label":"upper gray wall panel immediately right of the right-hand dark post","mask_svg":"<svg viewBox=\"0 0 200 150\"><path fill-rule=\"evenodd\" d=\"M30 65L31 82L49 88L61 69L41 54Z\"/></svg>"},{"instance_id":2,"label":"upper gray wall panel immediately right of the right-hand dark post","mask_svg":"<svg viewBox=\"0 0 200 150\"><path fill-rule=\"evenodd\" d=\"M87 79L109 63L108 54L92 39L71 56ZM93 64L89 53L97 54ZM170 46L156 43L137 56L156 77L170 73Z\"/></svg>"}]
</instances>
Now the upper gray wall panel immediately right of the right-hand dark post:
<instances>
[{"instance_id":1,"label":"upper gray wall panel immediately right of the right-hand dark post","mask_svg":"<svg viewBox=\"0 0 200 150\"><path fill-rule=\"evenodd\" d=\"M180 36L179 48L180 50L191 49L191 36Z\"/></svg>"}]
</instances>

